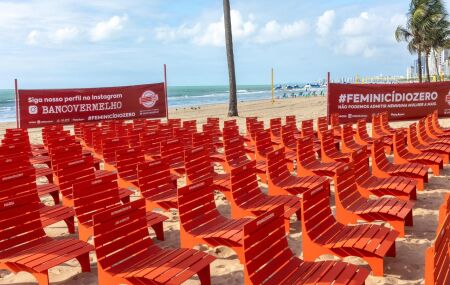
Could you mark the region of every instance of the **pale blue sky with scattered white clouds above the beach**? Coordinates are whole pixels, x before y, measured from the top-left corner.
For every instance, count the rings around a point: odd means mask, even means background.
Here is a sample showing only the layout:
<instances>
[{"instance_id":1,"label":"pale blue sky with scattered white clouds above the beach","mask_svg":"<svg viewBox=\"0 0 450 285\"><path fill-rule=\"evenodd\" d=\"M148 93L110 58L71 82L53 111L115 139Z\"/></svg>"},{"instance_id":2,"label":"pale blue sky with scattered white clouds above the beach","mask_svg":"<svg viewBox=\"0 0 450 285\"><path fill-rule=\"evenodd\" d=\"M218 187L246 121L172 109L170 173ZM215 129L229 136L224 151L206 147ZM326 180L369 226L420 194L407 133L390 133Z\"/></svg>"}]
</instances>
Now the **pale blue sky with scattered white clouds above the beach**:
<instances>
[{"instance_id":1,"label":"pale blue sky with scattered white clouds above the beach","mask_svg":"<svg viewBox=\"0 0 450 285\"><path fill-rule=\"evenodd\" d=\"M231 0L238 84L405 74L408 0ZM0 0L0 89L228 82L221 0Z\"/></svg>"}]
</instances>

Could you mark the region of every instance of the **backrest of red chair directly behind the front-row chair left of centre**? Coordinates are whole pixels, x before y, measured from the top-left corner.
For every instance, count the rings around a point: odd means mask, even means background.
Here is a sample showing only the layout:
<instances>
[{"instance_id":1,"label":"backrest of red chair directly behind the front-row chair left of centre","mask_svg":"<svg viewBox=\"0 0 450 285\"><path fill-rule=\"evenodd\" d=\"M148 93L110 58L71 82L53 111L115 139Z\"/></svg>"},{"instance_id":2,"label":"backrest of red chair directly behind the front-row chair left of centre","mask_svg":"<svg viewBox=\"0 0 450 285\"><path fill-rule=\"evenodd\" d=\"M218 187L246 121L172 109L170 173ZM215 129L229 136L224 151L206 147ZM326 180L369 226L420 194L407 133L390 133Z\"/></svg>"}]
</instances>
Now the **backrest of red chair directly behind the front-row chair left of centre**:
<instances>
[{"instance_id":1,"label":"backrest of red chair directly behind the front-row chair left of centre","mask_svg":"<svg viewBox=\"0 0 450 285\"><path fill-rule=\"evenodd\" d=\"M78 222L91 226L94 214L120 204L117 175L111 173L74 183L73 199Z\"/></svg>"}]
</instances>

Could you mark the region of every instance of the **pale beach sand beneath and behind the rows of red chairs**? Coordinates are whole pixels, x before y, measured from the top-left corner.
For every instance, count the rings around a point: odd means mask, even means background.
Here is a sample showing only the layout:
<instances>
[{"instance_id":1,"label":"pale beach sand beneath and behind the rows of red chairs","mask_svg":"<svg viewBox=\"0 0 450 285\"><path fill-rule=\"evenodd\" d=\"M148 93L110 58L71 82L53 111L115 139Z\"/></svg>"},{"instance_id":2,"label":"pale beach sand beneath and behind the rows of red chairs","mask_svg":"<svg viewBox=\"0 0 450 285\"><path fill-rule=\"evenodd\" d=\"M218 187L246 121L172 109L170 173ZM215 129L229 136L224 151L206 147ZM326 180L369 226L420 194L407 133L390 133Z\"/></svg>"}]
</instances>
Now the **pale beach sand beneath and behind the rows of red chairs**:
<instances>
[{"instance_id":1,"label":"pale beach sand beneath and behind the rows of red chairs","mask_svg":"<svg viewBox=\"0 0 450 285\"><path fill-rule=\"evenodd\" d=\"M285 117L286 115L296 115L297 120L315 119L326 114L326 99L324 97L315 98L293 98L279 100L275 104L270 101L257 101L239 103L240 117L237 121L244 130L246 116L258 116L264 119L266 126L269 126L269 119L273 117ZM178 108L170 110L170 117L182 118L184 120L196 119L200 124L206 121L206 117L219 117L227 119L227 105L210 105L193 108ZM441 120L444 126L450 126L450 119ZM409 122L393 123L395 127L407 126ZM0 123L0 134L5 128L15 127L15 123ZM369 125L370 127L370 125ZM40 130L30 131L32 142L41 141ZM424 253L435 238L437 227L437 214L439 205L443 201L443 196L450 190L450 167L447 166L442 171L441 176L430 176L424 192L418 193L418 199L414 207L414 227L406 229L405 238L397 240L397 257L385 259L385 276L383 278L370 276L366 284L423 284L424 276ZM180 181L179 185L183 185ZM261 184L265 191L265 185ZM133 199L137 199L135 195ZM47 198L44 202L49 203ZM230 216L230 208L223 195L216 195L216 204L220 212ZM169 219L164 223L165 241L155 240L155 243L162 247L179 247L179 224L176 211L165 213ZM301 246L301 225L300 222L291 220L291 232L288 236L289 246L297 256L302 256ZM380 223L382 224L382 223ZM46 228L49 236L55 238L72 237L77 235L67 234L67 229L63 223ZM150 234L154 237L153 232ZM217 257L211 267L211 278L213 284L243 284L243 266L239 263L236 254L229 248L218 247L209 248L201 246L199 249L207 251ZM80 273L81 269L76 261L68 262L50 270L50 282L52 284L97 284L97 268L95 255L91 254L92 272ZM322 256L320 259L332 259L332 256ZM346 261L360 264L367 267L364 261L359 258L346 258ZM0 284L35 284L33 277L27 273L11 274L0 271ZM195 279L187 284L199 284Z\"/></svg>"}]
</instances>

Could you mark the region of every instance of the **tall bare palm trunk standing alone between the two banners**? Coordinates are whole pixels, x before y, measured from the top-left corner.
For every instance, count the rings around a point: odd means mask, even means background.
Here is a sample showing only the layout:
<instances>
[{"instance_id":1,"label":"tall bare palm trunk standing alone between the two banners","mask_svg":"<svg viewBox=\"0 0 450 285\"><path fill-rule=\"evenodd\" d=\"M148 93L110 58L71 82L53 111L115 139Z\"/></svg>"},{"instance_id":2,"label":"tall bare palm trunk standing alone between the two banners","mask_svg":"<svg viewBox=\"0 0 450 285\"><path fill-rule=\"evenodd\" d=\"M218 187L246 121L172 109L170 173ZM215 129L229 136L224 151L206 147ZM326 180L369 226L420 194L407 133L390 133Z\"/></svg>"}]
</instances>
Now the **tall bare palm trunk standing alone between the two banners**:
<instances>
[{"instance_id":1,"label":"tall bare palm trunk standing alone between the two banners","mask_svg":"<svg viewBox=\"0 0 450 285\"><path fill-rule=\"evenodd\" d=\"M230 1L223 0L223 14L225 22L225 41L227 46L227 60L228 60L228 78L230 81L230 98L228 106L228 116L238 116L237 111L237 95L236 95L236 72L234 67L234 52L233 52L233 33L231 29L231 12Z\"/></svg>"}]
</instances>

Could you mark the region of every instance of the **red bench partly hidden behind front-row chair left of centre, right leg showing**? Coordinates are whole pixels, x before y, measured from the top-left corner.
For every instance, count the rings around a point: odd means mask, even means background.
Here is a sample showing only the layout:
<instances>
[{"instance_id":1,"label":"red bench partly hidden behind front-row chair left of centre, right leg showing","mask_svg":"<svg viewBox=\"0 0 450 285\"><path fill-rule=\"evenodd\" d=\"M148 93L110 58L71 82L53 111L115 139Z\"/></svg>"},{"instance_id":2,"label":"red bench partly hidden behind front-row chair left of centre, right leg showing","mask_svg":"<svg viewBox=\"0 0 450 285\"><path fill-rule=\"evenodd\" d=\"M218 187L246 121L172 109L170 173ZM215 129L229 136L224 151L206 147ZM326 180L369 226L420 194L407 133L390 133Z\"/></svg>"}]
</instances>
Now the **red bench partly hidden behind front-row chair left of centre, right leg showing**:
<instances>
[{"instance_id":1,"label":"red bench partly hidden behind front-row chair left of centre, right leg showing","mask_svg":"<svg viewBox=\"0 0 450 285\"><path fill-rule=\"evenodd\" d=\"M121 204L117 176L111 173L101 178L90 178L73 184L73 199L78 218L79 239L88 241L93 235L93 216ZM167 217L149 211L146 213L146 218L147 226L153 228L156 238L164 240L163 222L167 220Z\"/></svg>"}]
</instances>

